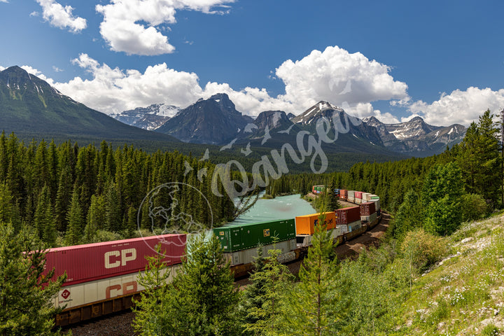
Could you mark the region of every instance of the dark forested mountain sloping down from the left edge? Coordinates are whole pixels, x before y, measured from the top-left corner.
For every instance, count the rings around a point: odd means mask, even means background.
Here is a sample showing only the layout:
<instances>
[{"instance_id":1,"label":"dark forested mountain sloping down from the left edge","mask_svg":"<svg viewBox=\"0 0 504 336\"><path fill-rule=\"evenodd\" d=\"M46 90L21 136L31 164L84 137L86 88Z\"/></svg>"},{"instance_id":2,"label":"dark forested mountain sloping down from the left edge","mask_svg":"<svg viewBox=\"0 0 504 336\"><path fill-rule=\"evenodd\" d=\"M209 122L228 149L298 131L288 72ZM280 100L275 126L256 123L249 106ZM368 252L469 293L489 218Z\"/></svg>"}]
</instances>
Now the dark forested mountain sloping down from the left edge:
<instances>
[{"instance_id":1,"label":"dark forested mountain sloping down from the left edge","mask_svg":"<svg viewBox=\"0 0 504 336\"><path fill-rule=\"evenodd\" d=\"M0 125L7 134L15 132L22 139L180 142L90 109L19 66L0 71Z\"/></svg>"}]
</instances>

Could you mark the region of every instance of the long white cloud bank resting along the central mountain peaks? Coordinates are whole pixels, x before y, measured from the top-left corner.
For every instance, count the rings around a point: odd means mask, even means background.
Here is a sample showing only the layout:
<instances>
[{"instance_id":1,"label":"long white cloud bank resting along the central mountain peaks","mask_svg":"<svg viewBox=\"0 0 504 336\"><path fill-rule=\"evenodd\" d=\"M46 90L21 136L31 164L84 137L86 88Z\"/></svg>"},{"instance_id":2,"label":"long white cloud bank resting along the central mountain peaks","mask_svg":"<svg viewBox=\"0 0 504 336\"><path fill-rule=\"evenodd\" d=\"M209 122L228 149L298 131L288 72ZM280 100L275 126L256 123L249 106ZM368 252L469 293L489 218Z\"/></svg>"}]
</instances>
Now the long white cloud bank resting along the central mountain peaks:
<instances>
[{"instance_id":1,"label":"long white cloud bank resting along the central mountain peaks","mask_svg":"<svg viewBox=\"0 0 504 336\"><path fill-rule=\"evenodd\" d=\"M73 63L91 73L92 79L76 77L68 83L55 83L57 89L109 114L161 102L186 107L201 97L223 92L235 102L238 111L251 116L268 110L297 115L326 100L359 118L377 116L390 121L395 120L393 116L374 111L371 102L409 99L407 85L393 80L388 66L370 61L358 52L349 54L337 46L323 52L314 50L295 62L283 62L276 69L276 77L285 83L286 94L276 97L259 87L235 90L228 83L215 82L202 87L196 73L169 69L165 63L149 66L144 73L111 69L87 54L79 55Z\"/></svg>"}]
</instances>

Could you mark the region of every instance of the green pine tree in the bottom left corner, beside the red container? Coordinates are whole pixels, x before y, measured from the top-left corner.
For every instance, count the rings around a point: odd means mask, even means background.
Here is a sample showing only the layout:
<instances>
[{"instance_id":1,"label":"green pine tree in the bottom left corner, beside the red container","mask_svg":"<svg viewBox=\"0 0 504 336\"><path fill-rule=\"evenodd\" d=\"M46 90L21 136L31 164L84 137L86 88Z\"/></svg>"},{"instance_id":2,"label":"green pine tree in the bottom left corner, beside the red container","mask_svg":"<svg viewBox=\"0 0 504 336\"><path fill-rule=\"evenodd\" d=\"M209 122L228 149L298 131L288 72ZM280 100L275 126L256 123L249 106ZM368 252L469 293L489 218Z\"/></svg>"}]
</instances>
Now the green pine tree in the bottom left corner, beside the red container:
<instances>
[{"instance_id":1,"label":"green pine tree in the bottom left corner, beside the red container","mask_svg":"<svg viewBox=\"0 0 504 336\"><path fill-rule=\"evenodd\" d=\"M0 223L0 335L59 335L51 331L60 310L51 299L66 276L48 281L53 271L41 276L44 268L43 250L27 228L15 235L12 225Z\"/></svg>"}]
</instances>

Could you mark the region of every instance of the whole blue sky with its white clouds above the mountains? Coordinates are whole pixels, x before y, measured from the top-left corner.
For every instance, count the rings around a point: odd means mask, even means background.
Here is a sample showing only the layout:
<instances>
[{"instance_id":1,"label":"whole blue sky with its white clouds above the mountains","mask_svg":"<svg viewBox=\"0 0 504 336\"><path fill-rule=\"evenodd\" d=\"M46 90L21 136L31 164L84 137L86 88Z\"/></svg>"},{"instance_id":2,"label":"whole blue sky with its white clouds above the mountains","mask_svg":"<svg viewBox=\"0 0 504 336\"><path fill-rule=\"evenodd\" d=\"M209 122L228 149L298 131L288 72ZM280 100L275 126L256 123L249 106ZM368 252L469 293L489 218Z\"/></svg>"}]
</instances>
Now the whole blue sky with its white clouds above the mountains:
<instances>
[{"instance_id":1,"label":"whole blue sky with its white clouds above the mountains","mask_svg":"<svg viewBox=\"0 0 504 336\"><path fill-rule=\"evenodd\" d=\"M363 118L468 125L504 108L503 1L0 0L0 69L104 113L319 100Z\"/></svg>"}]
</instances>

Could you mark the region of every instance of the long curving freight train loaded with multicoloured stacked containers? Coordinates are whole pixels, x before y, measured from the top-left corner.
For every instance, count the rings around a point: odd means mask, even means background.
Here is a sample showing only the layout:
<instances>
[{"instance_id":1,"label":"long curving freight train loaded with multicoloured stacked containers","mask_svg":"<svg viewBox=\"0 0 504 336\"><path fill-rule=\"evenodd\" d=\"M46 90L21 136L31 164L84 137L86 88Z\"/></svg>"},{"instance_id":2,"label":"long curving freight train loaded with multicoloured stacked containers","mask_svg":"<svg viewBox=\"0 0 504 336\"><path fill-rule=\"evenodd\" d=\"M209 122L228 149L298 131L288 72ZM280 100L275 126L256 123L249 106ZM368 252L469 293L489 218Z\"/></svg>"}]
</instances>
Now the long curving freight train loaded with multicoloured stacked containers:
<instances>
[{"instance_id":1,"label":"long curving freight train loaded with multicoloured stacked containers","mask_svg":"<svg viewBox=\"0 0 504 336\"><path fill-rule=\"evenodd\" d=\"M325 186L317 186L319 193ZM359 204L326 212L325 225L332 230L335 244L352 239L377 225L381 218L379 197L354 190L333 190L339 199ZM311 245L319 214L297 216L281 221L268 221L214 228L225 258L230 260L235 277L251 271L258 256L270 249L281 251L280 262L302 257ZM97 244L50 248L45 268L55 269L55 277L66 272L67 278L54 298L57 307L64 307L55 318L58 326L78 323L132 307L132 298L145 288L139 274L145 270L146 256L155 255L161 243L164 262L172 269L170 279L181 267L185 253L186 235L161 235ZM85 262L83 262L85 260Z\"/></svg>"}]
</instances>

